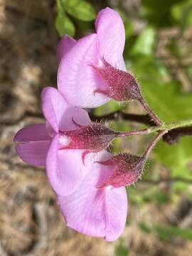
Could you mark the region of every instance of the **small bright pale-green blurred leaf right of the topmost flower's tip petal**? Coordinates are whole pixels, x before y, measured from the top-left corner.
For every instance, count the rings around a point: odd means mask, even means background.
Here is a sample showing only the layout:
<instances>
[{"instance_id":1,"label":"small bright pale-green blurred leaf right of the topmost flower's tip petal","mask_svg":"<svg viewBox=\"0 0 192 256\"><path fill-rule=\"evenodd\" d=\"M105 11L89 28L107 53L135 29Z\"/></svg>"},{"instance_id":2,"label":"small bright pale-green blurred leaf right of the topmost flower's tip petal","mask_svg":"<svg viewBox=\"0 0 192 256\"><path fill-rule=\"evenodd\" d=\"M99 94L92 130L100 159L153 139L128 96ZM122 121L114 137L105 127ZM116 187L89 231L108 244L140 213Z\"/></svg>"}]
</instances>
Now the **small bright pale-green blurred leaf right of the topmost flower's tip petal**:
<instances>
[{"instance_id":1,"label":"small bright pale-green blurred leaf right of the topmost flower's tip petal","mask_svg":"<svg viewBox=\"0 0 192 256\"><path fill-rule=\"evenodd\" d=\"M156 40L156 33L154 28L146 27L144 31L138 36L137 41L132 48L132 54L151 55L154 50Z\"/></svg>"}]
</instances>

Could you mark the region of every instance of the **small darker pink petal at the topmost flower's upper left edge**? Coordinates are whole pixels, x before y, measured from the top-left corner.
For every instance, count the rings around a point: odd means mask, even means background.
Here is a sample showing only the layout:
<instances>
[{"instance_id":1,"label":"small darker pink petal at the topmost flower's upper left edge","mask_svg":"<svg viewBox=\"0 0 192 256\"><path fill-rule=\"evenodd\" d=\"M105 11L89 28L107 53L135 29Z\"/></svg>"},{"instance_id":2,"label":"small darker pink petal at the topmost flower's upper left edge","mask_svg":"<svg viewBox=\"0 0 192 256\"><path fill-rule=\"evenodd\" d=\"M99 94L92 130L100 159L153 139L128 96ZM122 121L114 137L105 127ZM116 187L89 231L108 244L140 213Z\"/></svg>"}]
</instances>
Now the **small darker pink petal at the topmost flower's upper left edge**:
<instances>
[{"instance_id":1,"label":"small darker pink petal at the topmost flower's upper left edge","mask_svg":"<svg viewBox=\"0 0 192 256\"><path fill-rule=\"evenodd\" d=\"M60 39L57 47L57 59L58 63L60 63L60 60L65 56L68 51L75 46L75 39L71 38L68 35L63 36L63 38Z\"/></svg>"}]
</instances>

